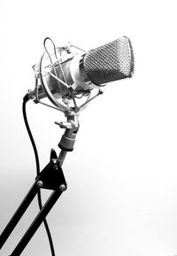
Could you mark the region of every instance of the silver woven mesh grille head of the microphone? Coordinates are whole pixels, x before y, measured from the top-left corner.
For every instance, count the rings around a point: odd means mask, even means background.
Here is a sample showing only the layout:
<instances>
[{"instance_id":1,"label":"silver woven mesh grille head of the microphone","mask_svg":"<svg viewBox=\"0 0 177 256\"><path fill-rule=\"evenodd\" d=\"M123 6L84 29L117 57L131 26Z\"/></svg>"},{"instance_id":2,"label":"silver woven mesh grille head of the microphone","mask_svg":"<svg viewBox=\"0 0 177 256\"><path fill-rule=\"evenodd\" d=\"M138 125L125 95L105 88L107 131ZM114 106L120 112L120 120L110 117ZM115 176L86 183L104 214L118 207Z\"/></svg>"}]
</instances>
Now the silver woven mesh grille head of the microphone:
<instances>
[{"instance_id":1,"label":"silver woven mesh grille head of the microphone","mask_svg":"<svg viewBox=\"0 0 177 256\"><path fill-rule=\"evenodd\" d=\"M90 81L99 85L134 74L134 54L130 40L124 36L89 50L84 58L84 68Z\"/></svg>"}]
</instances>

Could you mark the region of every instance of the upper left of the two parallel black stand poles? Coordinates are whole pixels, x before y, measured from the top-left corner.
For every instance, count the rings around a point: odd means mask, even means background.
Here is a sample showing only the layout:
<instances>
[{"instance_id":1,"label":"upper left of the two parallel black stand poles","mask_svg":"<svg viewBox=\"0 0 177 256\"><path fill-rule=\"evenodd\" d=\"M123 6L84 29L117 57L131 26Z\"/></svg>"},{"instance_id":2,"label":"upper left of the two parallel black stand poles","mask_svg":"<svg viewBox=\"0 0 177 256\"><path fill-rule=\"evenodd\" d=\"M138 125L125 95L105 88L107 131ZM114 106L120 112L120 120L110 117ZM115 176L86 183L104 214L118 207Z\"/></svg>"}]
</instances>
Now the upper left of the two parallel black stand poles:
<instances>
[{"instance_id":1,"label":"upper left of the two parallel black stand poles","mask_svg":"<svg viewBox=\"0 0 177 256\"><path fill-rule=\"evenodd\" d=\"M37 194L38 190L39 190L39 187L36 185L36 182L35 182L34 185L31 187L31 189L29 190L29 192L27 193L27 196L23 199L17 211L13 214L12 219L9 221L9 223L5 227L3 233L1 234L0 249L3 247L7 238L10 237L12 230L16 227L22 215L26 212L27 207L35 198L35 195Z\"/></svg>"}]
</instances>

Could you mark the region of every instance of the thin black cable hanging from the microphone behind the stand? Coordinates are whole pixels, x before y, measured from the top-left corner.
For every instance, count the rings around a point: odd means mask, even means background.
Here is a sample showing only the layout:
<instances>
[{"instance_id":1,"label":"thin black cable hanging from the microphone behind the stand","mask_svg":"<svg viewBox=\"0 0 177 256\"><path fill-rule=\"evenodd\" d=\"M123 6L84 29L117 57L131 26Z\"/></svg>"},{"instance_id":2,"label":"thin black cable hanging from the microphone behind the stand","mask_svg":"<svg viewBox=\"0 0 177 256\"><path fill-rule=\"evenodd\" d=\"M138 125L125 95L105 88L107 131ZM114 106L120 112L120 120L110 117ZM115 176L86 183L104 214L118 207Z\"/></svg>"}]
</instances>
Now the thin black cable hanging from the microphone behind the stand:
<instances>
[{"instance_id":1,"label":"thin black cable hanging from the microphone behind the stand","mask_svg":"<svg viewBox=\"0 0 177 256\"><path fill-rule=\"evenodd\" d=\"M34 140L34 138L33 138L33 136L32 136L32 133L31 133L31 130L30 130L30 128L29 128L28 121L27 121L26 105L27 105L27 101L28 101L28 100L29 100L29 97L28 97L28 94L27 94L27 95L23 98L23 105L22 105L23 118L24 118L25 125L26 125L26 128L27 128L28 136L29 136L29 138L30 138L31 144L32 144L33 149L34 149L34 152L35 152L36 174L39 175L39 174L40 174L40 164L39 164L38 152L37 152L37 149L36 149L36 146L35 146L35 140ZM38 191L38 193L37 193L37 198L38 198L38 205L39 205L39 208L40 208L40 210L41 210L41 209L42 209L41 190ZM43 220L43 224L44 224L44 226L45 226L46 233L47 233L47 236L48 236L48 239L49 239L51 255L52 255L52 256L55 256L53 241L52 241L52 237L51 237L51 234L50 234L50 228L49 228L49 225L48 225L48 222L46 221L46 219Z\"/></svg>"}]
</instances>

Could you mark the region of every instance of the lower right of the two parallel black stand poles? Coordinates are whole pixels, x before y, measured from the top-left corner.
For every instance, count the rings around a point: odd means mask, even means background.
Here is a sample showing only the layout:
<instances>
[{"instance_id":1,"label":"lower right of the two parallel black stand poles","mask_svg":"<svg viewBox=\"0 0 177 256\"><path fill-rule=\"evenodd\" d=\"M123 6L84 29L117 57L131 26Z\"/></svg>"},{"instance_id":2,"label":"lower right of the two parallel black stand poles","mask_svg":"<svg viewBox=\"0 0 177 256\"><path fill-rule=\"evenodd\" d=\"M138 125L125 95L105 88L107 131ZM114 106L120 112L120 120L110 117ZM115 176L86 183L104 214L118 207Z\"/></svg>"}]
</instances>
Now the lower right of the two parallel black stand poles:
<instances>
[{"instance_id":1,"label":"lower right of the two parallel black stand poles","mask_svg":"<svg viewBox=\"0 0 177 256\"><path fill-rule=\"evenodd\" d=\"M19 241L19 244L16 246L14 251L10 256L19 256L21 252L25 249L30 239L34 236L35 231L39 228L39 226L42 224L43 219L47 216L47 214L50 212L50 209L52 206L55 205L58 198L62 194L62 190L55 190L50 198L47 200L45 205L42 207L42 210L38 213L38 215L35 217L35 221L31 224L29 229L27 229L27 232L25 233L24 237L21 238Z\"/></svg>"}]
</instances>

